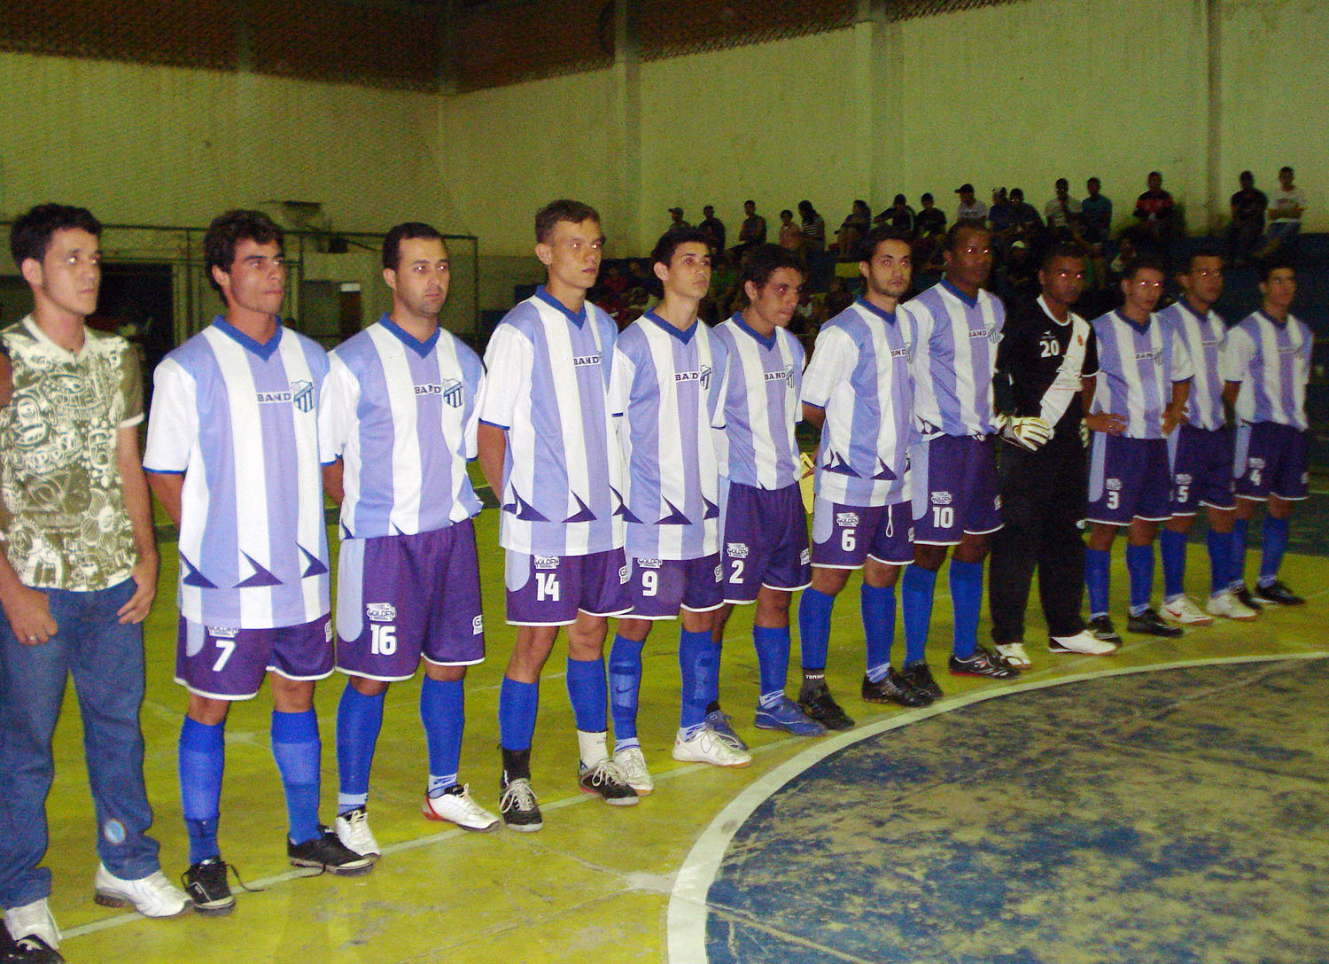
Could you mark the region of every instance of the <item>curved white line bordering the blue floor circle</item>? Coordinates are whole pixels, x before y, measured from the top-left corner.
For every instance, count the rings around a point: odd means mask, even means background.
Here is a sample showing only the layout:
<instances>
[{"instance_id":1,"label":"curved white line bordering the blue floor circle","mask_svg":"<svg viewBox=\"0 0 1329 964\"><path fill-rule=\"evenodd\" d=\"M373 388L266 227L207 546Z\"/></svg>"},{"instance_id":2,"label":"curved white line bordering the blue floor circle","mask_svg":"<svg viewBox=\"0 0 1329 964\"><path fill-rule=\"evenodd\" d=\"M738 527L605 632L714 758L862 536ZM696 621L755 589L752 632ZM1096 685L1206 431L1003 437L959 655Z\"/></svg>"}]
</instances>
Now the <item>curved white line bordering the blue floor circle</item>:
<instances>
[{"instance_id":1,"label":"curved white line bordering the blue floor circle","mask_svg":"<svg viewBox=\"0 0 1329 964\"><path fill-rule=\"evenodd\" d=\"M889 719L868 723L860 729L843 733L839 737L821 739L816 743L816 746L808 747L792 759L777 766L771 773L748 784L747 788L730 800L728 806L726 806L724 810L722 810L715 819L711 820L710 826L702 831L696 843L692 844L692 850L688 851L682 866L678 868L678 874L674 878L674 892L670 895L667 917L668 964L707 964L707 895L710 894L711 884L715 882L715 874L719 871L720 860L724 859L730 842L734 839L734 834L738 832L739 827L742 827L743 823L752 815L754 810L764 803L780 787L812 765L819 763L847 746L853 746L855 743L869 739L870 737L877 737L888 730L896 730L920 719L928 719L929 717L936 717L941 713L958 710L962 706L978 703L985 699L994 699L997 697L1006 697L1030 690L1041 690L1049 686L1061 686L1062 683L1100 679L1103 677L1112 675L1128 675L1132 673L1152 673L1155 670L1166 669L1185 669L1189 666L1277 662L1284 660L1320 660L1324 657L1329 657L1329 650L1280 656L1233 656L1209 660L1180 660L1154 666L1128 666L1076 673L1074 675L1058 677L1057 679L1014 683L1001 689L985 689L974 693L966 693L964 695L948 697L926 709L909 710L908 713L901 713L890 717Z\"/></svg>"}]
</instances>

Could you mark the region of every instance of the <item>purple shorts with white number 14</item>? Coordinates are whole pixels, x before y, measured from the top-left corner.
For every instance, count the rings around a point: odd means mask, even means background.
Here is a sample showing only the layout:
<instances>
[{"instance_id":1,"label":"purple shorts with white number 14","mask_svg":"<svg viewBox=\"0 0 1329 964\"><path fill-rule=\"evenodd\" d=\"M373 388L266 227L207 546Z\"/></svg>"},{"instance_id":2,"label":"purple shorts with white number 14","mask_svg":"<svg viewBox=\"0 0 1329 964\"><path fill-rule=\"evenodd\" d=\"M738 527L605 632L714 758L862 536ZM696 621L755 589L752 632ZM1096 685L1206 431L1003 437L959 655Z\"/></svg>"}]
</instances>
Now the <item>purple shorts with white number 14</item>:
<instances>
[{"instance_id":1,"label":"purple shorts with white number 14","mask_svg":"<svg viewBox=\"0 0 1329 964\"><path fill-rule=\"evenodd\" d=\"M569 626L577 613L623 616L633 608L622 549L586 556L528 556L509 552L508 624Z\"/></svg>"}]
</instances>

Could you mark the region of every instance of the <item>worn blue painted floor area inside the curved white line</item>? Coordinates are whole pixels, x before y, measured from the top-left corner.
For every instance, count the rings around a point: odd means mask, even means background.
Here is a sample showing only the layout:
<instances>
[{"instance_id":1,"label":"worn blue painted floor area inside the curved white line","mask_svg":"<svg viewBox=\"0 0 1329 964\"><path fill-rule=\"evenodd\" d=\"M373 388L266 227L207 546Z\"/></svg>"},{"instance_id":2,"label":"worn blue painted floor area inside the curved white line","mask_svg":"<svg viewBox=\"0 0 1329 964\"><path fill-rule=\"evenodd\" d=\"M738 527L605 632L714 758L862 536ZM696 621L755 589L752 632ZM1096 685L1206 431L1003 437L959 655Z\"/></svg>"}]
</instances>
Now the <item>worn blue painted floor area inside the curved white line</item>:
<instances>
[{"instance_id":1,"label":"worn blue painted floor area inside the curved white line","mask_svg":"<svg viewBox=\"0 0 1329 964\"><path fill-rule=\"evenodd\" d=\"M735 834L714 964L1329 959L1329 661L974 703L813 765Z\"/></svg>"}]
</instances>

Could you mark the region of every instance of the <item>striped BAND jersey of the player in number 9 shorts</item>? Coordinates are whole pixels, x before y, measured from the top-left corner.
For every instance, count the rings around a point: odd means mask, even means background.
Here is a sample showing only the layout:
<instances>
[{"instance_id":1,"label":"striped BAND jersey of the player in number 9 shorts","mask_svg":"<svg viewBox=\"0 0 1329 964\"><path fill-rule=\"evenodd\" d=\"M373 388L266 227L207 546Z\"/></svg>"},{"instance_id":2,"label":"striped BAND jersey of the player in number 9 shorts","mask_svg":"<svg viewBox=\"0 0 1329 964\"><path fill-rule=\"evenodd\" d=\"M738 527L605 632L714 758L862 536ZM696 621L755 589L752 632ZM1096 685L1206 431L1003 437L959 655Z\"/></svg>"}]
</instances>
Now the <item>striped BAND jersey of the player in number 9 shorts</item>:
<instances>
[{"instance_id":1,"label":"striped BAND jersey of the player in number 9 shorts","mask_svg":"<svg viewBox=\"0 0 1329 964\"><path fill-rule=\"evenodd\" d=\"M626 467L626 549L635 558L719 552L724 414L715 348L702 322L679 331L653 311L614 343L610 406Z\"/></svg>"}]
</instances>

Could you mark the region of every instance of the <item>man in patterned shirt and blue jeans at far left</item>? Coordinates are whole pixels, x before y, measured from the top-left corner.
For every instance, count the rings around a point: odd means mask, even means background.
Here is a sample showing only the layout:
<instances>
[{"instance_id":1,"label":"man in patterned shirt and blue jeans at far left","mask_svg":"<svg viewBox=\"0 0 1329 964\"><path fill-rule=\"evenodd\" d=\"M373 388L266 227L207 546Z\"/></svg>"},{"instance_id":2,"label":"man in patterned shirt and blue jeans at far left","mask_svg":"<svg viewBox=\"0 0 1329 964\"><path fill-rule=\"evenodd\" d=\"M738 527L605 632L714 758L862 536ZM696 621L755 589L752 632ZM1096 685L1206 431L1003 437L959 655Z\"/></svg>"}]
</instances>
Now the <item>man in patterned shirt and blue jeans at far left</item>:
<instances>
[{"instance_id":1,"label":"man in patterned shirt and blue jeans at far left","mask_svg":"<svg viewBox=\"0 0 1329 964\"><path fill-rule=\"evenodd\" d=\"M187 903L148 836L138 710L157 546L138 463L138 362L122 338L85 326L101 285L100 237L84 207L39 205L15 221L9 249L33 308L0 332L9 402L0 408L0 905L33 960L58 959L51 871L40 863L51 741L70 674L98 823L93 899L149 917Z\"/></svg>"}]
</instances>

